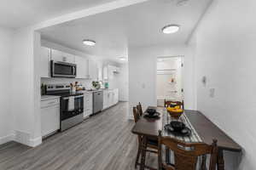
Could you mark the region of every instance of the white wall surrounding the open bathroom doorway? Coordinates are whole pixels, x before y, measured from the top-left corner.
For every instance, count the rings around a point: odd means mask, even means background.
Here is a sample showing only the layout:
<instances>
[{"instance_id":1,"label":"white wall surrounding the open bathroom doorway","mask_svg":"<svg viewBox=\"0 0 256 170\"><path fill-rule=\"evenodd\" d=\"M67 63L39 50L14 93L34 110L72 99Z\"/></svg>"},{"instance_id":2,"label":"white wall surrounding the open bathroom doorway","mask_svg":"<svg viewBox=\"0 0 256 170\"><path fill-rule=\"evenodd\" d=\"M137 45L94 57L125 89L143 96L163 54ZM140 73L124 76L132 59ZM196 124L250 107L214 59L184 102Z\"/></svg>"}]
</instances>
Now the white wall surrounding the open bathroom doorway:
<instances>
[{"instance_id":1,"label":"white wall surrounding the open bathroom doorway","mask_svg":"<svg viewBox=\"0 0 256 170\"><path fill-rule=\"evenodd\" d=\"M195 109L194 55L185 46L154 46L148 48L129 48L129 102L130 109L142 102L157 105L156 65L157 57L184 56L184 103L186 109ZM130 115L131 117L131 115Z\"/></svg>"}]
</instances>

